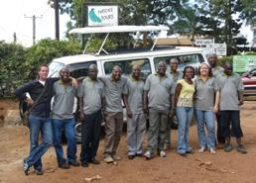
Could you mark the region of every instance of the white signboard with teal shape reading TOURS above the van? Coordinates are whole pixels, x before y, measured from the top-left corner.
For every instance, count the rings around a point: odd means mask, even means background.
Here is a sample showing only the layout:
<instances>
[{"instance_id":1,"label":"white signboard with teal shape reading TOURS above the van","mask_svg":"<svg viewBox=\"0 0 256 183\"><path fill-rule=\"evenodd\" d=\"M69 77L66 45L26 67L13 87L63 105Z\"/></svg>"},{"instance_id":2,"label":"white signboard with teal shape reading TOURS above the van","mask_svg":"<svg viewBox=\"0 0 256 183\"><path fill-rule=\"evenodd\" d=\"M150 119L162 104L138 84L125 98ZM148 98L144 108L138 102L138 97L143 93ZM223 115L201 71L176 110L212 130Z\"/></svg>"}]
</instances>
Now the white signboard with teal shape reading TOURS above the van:
<instances>
[{"instance_id":1,"label":"white signboard with teal shape reading TOURS above the van","mask_svg":"<svg viewBox=\"0 0 256 183\"><path fill-rule=\"evenodd\" d=\"M87 5L87 26L118 26L117 5Z\"/></svg>"}]
</instances>

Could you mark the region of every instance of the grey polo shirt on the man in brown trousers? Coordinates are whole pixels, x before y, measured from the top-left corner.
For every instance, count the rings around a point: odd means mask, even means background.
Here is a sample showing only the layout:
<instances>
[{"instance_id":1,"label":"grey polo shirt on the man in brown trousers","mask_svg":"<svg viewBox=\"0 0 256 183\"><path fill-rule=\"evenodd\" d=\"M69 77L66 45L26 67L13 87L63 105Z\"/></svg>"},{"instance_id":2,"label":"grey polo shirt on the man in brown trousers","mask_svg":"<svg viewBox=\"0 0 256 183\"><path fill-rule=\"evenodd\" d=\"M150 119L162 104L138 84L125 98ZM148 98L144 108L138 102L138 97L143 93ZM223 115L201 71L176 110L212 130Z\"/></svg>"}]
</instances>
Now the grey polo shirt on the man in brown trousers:
<instances>
[{"instance_id":1,"label":"grey polo shirt on the man in brown trousers","mask_svg":"<svg viewBox=\"0 0 256 183\"><path fill-rule=\"evenodd\" d=\"M106 112L123 112L122 94L124 94L127 79L121 77L118 81L115 81L111 75L98 77L98 79L104 83Z\"/></svg>"}]
</instances>

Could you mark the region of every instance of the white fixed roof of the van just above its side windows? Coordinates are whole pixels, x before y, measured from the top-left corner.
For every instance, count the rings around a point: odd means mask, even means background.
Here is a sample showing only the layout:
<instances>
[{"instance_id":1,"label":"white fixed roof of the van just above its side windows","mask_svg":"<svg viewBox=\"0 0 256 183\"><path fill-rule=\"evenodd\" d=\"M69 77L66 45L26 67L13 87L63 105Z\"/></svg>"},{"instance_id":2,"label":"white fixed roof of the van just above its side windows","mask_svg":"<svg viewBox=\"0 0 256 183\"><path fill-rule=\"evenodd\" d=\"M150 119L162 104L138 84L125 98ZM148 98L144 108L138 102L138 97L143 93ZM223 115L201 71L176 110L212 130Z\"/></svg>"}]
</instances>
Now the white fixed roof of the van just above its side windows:
<instances>
[{"instance_id":1,"label":"white fixed roof of the van just above its side windows","mask_svg":"<svg viewBox=\"0 0 256 183\"><path fill-rule=\"evenodd\" d=\"M170 49L157 49L154 51L140 51L140 52L122 52L118 54L100 54L100 55L92 55L92 54L78 54L78 55L70 55L55 58L54 61L61 62L64 64L72 64L72 63L79 63L82 61L92 61L92 60L115 60L115 59L128 59L128 58L135 58L135 57L149 57L149 56L163 56L167 54L191 54L191 53L201 53L201 49L198 47L190 47L190 46L177 46L176 48Z\"/></svg>"}]
</instances>

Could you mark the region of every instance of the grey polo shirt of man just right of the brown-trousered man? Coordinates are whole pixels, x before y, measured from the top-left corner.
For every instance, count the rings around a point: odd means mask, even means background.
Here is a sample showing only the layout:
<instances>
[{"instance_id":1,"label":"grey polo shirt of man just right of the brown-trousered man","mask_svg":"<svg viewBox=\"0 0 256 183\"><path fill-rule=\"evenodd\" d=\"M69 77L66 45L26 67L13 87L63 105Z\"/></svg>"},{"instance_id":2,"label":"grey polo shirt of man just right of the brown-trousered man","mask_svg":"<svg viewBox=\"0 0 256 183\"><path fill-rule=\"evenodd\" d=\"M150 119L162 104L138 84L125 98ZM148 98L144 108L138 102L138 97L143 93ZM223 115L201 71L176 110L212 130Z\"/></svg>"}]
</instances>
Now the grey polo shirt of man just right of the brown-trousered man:
<instances>
[{"instance_id":1,"label":"grey polo shirt of man just right of the brown-trousered man","mask_svg":"<svg viewBox=\"0 0 256 183\"><path fill-rule=\"evenodd\" d=\"M128 96L128 104L133 114L143 113L143 87L143 80L135 80L132 77L127 79L126 90L124 93Z\"/></svg>"}]
</instances>

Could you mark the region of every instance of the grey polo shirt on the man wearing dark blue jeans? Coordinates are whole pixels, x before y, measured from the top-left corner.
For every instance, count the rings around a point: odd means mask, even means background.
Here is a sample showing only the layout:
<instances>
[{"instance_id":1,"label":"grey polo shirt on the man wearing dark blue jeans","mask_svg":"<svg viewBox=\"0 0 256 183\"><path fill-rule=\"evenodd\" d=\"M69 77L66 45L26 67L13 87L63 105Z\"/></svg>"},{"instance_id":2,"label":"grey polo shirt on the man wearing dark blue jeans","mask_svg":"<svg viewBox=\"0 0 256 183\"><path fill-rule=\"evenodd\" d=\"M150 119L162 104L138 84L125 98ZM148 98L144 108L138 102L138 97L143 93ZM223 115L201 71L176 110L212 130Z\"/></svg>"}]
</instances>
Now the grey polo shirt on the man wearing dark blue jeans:
<instances>
[{"instance_id":1,"label":"grey polo shirt on the man wearing dark blue jeans","mask_svg":"<svg viewBox=\"0 0 256 183\"><path fill-rule=\"evenodd\" d=\"M76 91L71 82L64 85L62 80L54 84L54 104L52 110L53 119L70 119L72 116L73 101Z\"/></svg>"}]
</instances>

